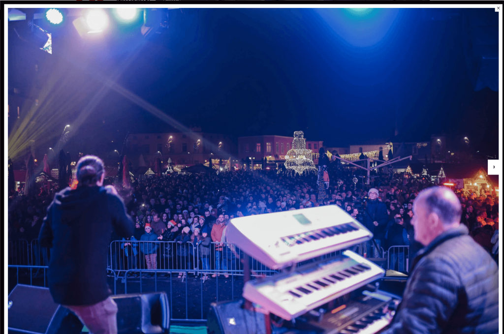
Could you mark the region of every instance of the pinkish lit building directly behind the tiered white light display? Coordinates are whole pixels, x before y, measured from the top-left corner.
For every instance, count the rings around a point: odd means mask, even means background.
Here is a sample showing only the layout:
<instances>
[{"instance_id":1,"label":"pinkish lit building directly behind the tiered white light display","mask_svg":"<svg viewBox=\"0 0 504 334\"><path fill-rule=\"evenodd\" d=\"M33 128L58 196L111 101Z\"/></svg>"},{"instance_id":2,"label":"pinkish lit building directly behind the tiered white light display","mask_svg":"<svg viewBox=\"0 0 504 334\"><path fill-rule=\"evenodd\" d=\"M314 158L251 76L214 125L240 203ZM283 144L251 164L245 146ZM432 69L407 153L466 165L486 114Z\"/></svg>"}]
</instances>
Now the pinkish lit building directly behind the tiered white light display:
<instances>
[{"instance_id":1,"label":"pinkish lit building directly behind the tiered white light display","mask_svg":"<svg viewBox=\"0 0 504 334\"><path fill-rule=\"evenodd\" d=\"M251 136L238 137L238 161L248 164L253 161L255 168L260 168L261 160L277 164L285 163L287 152L292 149L294 137L284 136ZM318 163L319 149L323 147L322 141L306 141L306 149L313 152L313 162ZM248 162L247 162L248 160Z\"/></svg>"}]
</instances>

